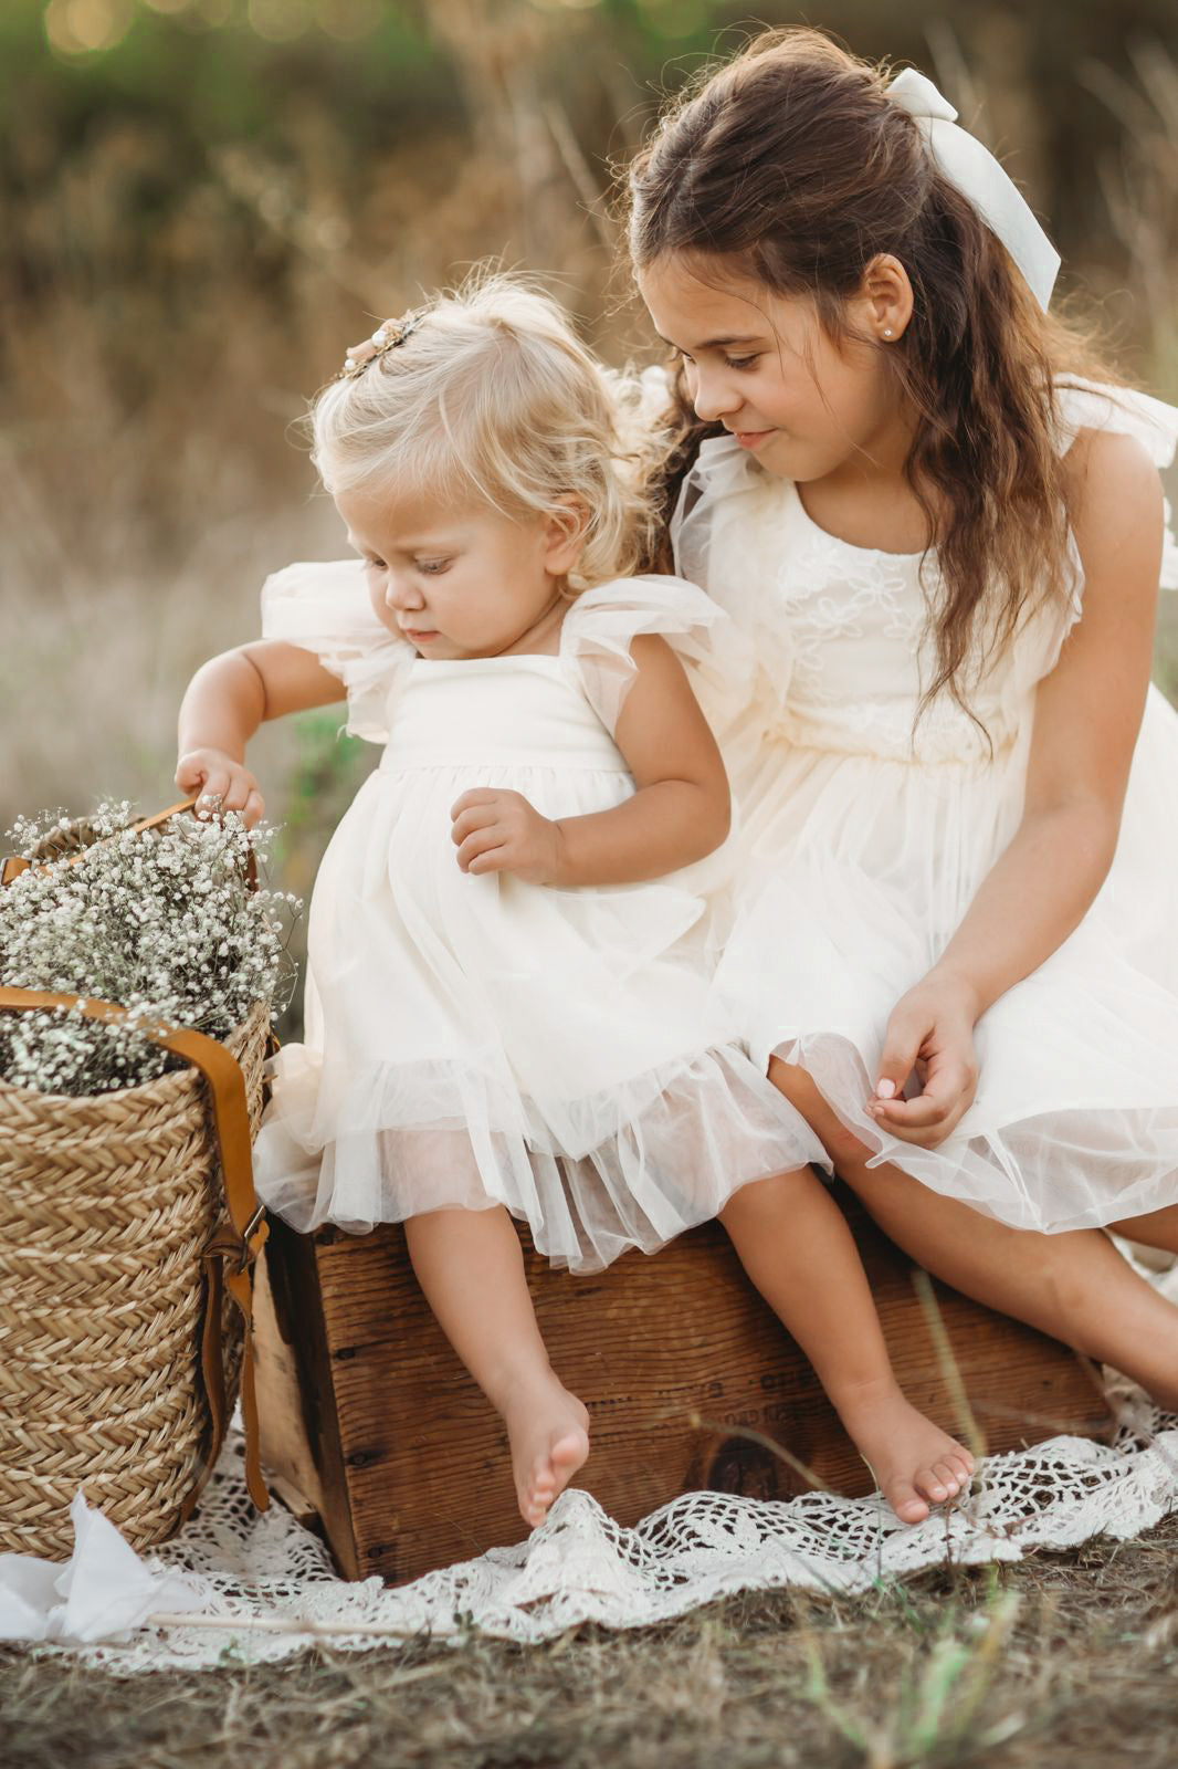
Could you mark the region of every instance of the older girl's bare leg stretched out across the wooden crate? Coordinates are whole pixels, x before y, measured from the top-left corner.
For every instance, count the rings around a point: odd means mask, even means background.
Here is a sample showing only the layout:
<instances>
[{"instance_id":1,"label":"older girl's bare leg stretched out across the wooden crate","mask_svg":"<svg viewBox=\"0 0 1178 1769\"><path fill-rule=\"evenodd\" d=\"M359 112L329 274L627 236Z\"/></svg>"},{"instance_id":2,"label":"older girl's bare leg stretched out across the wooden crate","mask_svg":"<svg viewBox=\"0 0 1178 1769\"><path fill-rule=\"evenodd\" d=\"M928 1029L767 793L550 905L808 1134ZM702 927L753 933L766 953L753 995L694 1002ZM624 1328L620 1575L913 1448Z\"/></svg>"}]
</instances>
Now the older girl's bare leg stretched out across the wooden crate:
<instances>
[{"instance_id":1,"label":"older girl's bare leg stretched out across the wooden crate","mask_svg":"<svg viewBox=\"0 0 1178 1769\"><path fill-rule=\"evenodd\" d=\"M1040 1235L943 1198L900 1168L868 1168L810 1076L776 1058L769 1079L826 1145L835 1171L897 1245L955 1290L1028 1321L1178 1408L1178 1309L1120 1256L1102 1229ZM1121 1224L1148 1242L1139 1222Z\"/></svg>"}]
</instances>

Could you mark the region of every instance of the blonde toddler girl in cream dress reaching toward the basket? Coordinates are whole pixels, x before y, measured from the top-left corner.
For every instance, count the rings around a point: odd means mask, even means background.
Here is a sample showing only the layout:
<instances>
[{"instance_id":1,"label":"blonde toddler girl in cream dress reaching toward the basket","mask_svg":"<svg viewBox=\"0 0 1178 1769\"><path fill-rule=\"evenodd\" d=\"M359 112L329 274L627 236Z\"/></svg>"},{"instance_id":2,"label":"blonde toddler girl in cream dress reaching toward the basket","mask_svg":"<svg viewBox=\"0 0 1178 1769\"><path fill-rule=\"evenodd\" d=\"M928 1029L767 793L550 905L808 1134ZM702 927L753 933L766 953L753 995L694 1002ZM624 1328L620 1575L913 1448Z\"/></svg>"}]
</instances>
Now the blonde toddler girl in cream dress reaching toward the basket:
<instances>
[{"instance_id":1,"label":"blonde toddler girl in cream dress reaching toward the basket","mask_svg":"<svg viewBox=\"0 0 1178 1769\"><path fill-rule=\"evenodd\" d=\"M900 1396L822 1148L708 989L729 787L683 660L741 660L702 591L626 575L644 511L610 382L554 304L483 280L352 350L313 430L361 561L271 578L264 640L180 713L177 782L248 821L260 720L347 692L384 745L315 884L258 1192L301 1229L405 1222L527 1523L589 1421L511 1217L591 1272L718 1215L897 1514L927 1516L971 1459Z\"/></svg>"}]
</instances>

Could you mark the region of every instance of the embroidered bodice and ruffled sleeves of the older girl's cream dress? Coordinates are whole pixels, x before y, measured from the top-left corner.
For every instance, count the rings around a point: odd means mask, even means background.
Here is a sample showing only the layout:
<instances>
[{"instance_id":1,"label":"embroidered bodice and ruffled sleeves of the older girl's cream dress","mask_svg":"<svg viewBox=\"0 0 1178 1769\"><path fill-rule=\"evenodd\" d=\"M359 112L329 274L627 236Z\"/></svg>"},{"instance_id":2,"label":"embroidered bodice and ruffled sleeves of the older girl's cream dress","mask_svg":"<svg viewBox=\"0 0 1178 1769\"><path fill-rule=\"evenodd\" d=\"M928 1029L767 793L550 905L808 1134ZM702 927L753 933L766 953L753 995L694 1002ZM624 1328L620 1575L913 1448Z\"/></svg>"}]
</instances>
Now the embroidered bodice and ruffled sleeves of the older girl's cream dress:
<instances>
[{"instance_id":1,"label":"embroidered bodice and ruffled sleeves of the older girl's cream dress","mask_svg":"<svg viewBox=\"0 0 1178 1769\"><path fill-rule=\"evenodd\" d=\"M1121 400L1130 403L1121 409ZM1081 391L1061 394L1061 407L1070 423L1061 446L1105 421L1148 440L1159 465L1173 455L1178 414L1144 394L1118 389L1114 407L1102 391ZM920 713L934 679L936 554L888 554L828 534L796 485L771 479L731 437L702 444L672 540L677 570L753 640L762 732L808 748L916 762L983 761L1008 748L1028 729L1035 685L1081 610L1072 545L1067 600L1024 617L1014 640L975 658L964 672L968 709L943 693ZM1164 580L1173 577L1171 568Z\"/></svg>"}]
</instances>

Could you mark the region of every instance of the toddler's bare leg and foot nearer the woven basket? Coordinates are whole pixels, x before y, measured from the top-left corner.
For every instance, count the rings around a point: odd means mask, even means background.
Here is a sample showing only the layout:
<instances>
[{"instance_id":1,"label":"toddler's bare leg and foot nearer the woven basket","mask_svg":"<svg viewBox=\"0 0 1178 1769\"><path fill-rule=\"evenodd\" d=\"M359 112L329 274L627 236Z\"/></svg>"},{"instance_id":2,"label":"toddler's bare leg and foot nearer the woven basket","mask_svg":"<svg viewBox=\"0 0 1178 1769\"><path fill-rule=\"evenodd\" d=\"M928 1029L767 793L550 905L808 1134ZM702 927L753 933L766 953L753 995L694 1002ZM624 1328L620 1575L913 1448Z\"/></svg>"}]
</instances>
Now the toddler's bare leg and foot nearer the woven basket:
<instances>
[{"instance_id":1,"label":"toddler's bare leg and foot nearer the woven basket","mask_svg":"<svg viewBox=\"0 0 1178 1769\"><path fill-rule=\"evenodd\" d=\"M405 1224L417 1283L511 1442L520 1516L532 1528L589 1454L589 1413L555 1376L502 1208L432 1210Z\"/></svg>"}]
</instances>

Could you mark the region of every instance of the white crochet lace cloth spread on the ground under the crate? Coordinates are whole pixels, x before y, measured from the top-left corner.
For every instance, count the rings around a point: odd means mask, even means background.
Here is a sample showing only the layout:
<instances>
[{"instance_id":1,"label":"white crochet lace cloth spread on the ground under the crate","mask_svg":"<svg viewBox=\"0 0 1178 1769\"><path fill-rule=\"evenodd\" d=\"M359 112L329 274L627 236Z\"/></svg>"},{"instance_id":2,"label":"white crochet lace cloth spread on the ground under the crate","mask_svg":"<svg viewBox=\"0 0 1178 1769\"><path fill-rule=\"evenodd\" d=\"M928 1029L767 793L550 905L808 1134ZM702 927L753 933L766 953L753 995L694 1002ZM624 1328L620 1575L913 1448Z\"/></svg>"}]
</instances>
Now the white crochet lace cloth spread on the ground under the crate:
<instances>
[{"instance_id":1,"label":"white crochet lace cloth spread on the ground under the crate","mask_svg":"<svg viewBox=\"0 0 1178 1769\"><path fill-rule=\"evenodd\" d=\"M1162 1284L1178 1291L1178 1272ZM764 1504L686 1493L626 1530L587 1493L568 1491L520 1546L400 1589L340 1580L322 1543L281 1505L255 1514L233 1436L198 1516L150 1562L203 1580L200 1626L175 1619L126 1645L81 1652L133 1672L216 1665L226 1649L235 1661L279 1659L313 1638L361 1649L423 1633L456 1640L478 1627L536 1643L587 1620L649 1626L739 1590L856 1592L946 1560L1019 1560L1093 1535L1125 1539L1178 1509L1178 1415L1109 1378L1121 1421L1113 1444L1058 1436L992 1456L969 1498L927 1523L897 1523L879 1498L807 1493Z\"/></svg>"}]
</instances>

